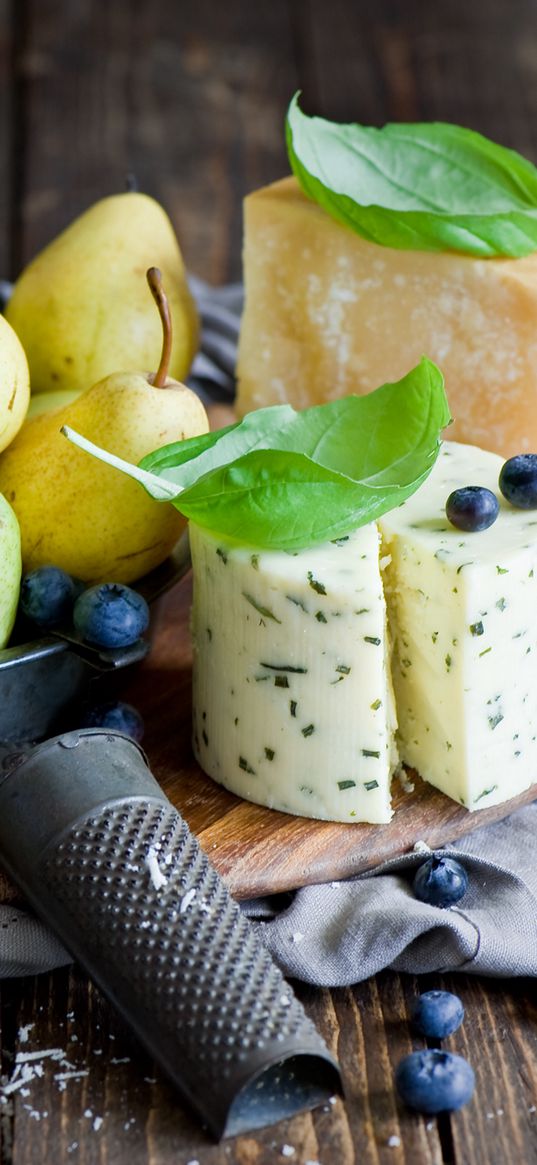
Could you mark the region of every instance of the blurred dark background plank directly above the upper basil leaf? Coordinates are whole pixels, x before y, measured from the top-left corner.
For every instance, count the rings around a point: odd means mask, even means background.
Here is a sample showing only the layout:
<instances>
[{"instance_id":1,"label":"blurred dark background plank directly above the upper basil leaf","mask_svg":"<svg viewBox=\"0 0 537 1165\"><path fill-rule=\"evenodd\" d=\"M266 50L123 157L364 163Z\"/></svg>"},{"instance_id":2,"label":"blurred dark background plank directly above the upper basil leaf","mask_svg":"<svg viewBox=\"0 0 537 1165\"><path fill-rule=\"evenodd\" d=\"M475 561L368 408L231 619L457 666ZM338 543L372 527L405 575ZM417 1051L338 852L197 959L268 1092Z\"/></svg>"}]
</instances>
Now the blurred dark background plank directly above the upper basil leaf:
<instances>
[{"instance_id":1,"label":"blurred dark background plank directly above the upper basil leaf","mask_svg":"<svg viewBox=\"0 0 537 1165\"><path fill-rule=\"evenodd\" d=\"M530 0L374 7L303 0L301 82L311 112L369 125L468 125L537 158ZM304 76L304 80L303 80Z\"/></svg>"}]
</instances>

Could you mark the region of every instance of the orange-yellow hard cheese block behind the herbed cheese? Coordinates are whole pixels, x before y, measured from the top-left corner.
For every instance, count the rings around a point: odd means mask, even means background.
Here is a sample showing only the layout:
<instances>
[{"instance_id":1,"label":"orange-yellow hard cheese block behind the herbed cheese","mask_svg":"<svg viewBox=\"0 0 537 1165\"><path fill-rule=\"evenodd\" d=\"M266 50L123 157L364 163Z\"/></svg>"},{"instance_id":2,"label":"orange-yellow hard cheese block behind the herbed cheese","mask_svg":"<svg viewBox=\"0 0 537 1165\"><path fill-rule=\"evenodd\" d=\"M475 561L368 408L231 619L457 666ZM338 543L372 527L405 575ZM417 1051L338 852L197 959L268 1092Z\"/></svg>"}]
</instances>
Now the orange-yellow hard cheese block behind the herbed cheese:
<instances>
[{"instance_id":1,"label":"orange-yellow hard cheese block behind the herbed cheese","mask_svg":"<svg viewBox=\"0 0 537 1165\"><path fill-rule=\"evenodd\" d=\"M441 368L453 439L537 449L537 254L394 250L367 242L295 178L245 205L238 409L297 408Z\"/></svg>"}]
</instances>

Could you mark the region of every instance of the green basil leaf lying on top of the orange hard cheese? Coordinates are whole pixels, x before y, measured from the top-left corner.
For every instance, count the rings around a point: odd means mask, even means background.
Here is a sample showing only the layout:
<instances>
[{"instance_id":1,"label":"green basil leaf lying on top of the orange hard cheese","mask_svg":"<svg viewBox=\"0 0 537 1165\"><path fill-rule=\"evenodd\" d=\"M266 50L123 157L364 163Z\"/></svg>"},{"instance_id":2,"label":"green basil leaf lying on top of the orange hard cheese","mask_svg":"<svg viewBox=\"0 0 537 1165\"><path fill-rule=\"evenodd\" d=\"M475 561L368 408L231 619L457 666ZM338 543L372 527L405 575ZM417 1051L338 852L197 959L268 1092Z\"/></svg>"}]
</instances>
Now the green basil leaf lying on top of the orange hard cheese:
<instances>
[{"instance_id":1,"label":"green basil leaf lying on top of the orange hard cheese","mask_svg":"<svg viewBox=\"0 0 537 1165\"><path fill-rule=\"evenodd\" d=\"M537 169L446 122L382 129L309 118L291 100L291 168L304 192L384 247L518 257L537 249Z\"/></svg>"}]
</instances>

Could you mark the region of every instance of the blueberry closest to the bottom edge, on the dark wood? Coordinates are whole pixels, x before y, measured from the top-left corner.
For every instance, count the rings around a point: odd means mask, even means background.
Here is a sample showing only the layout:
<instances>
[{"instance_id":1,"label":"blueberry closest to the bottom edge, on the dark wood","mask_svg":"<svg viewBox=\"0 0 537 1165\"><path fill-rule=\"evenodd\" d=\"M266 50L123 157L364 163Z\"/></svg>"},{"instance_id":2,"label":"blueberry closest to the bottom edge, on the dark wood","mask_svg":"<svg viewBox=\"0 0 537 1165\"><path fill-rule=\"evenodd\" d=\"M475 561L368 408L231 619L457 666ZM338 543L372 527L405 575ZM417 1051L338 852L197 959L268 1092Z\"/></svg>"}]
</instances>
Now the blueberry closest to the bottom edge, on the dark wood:
<instances>
[{"instance_id":1,"label":"blueberry closest to the bottom edge, on the dark wood","mask_svg":"<svg viewBox=\"0 0 537 1165\"><path fill-rule=\"evenodd\" d=\"M418 1113L452 1113L469 1101L475 1076L461 1055L432 1048L405 1055L395 1069L395 1086Z\"/></svg>"}]
</instances>

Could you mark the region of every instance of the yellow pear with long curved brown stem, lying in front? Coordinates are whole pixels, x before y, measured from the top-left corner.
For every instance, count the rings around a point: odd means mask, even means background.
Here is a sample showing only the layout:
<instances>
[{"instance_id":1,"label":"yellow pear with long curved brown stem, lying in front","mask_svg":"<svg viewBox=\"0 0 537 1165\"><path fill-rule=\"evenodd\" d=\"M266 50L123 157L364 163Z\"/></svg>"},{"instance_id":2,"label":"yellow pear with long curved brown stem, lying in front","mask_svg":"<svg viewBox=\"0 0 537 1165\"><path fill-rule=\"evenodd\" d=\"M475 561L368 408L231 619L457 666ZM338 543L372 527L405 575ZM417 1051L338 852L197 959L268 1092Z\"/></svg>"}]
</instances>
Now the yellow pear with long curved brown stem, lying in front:
<instances>
[{"instance_id":1,"label":"yellow pear with long curved brown stem, lying in front","mask_svg":"<svg viewBox=\"0 0 537 1165\"><path fill-rule=\"evenodd\" d=\"M52 563L87 582L132 582L167 558L184 529L171 504L154 501L59 431L70 425L135 464L161 445L207 432L199 398L168 376L170 318L160 273L148 280L164 329L157 373L105 377L64 409L28 421L0 456L0 490L19 517L26 571Z\"/></svg>"}]
</instances>

